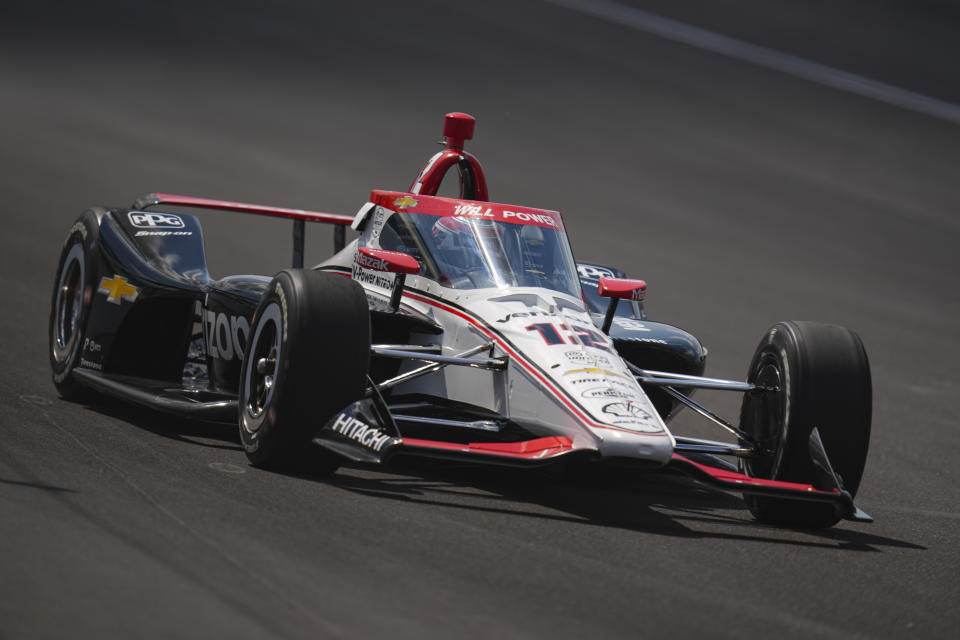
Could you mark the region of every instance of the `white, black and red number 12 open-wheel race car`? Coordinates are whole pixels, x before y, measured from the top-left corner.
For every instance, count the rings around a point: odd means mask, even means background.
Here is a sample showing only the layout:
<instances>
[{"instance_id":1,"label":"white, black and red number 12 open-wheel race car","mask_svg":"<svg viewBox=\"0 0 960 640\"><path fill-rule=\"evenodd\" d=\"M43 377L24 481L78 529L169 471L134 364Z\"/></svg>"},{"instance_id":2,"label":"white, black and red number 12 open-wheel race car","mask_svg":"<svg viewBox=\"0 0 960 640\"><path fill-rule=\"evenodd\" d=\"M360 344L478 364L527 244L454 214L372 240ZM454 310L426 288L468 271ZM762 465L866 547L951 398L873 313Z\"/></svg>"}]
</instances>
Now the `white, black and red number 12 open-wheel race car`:
<instances>
[{"instance_id":1,"label":"white, black and red number 12 open-wheel race car","mask_svg":"<svg viewBox=\"0 0 960 640\"><path fill-rule=\"evenodd\" d=\"M871 521L853 502L872 403L854 332L781 322L746 381L704 377L699 340L647 319L644 281L576 262L558 212L489 201L473 130L447 114L409 190L375 190L352 216L162 193L87 210L54 281L58 391L239 424L255 466L322 474L402 453L672 469L743 493L765 522ZM460 197L438 197L454 167ZM211 278L183 208L292 219L292 268ZM307 269L305 222L335 225L333 255ZM696 389L742 393L739 424ZM683 408L732 441L672 434Z\"/></svg>"}]
</instances>

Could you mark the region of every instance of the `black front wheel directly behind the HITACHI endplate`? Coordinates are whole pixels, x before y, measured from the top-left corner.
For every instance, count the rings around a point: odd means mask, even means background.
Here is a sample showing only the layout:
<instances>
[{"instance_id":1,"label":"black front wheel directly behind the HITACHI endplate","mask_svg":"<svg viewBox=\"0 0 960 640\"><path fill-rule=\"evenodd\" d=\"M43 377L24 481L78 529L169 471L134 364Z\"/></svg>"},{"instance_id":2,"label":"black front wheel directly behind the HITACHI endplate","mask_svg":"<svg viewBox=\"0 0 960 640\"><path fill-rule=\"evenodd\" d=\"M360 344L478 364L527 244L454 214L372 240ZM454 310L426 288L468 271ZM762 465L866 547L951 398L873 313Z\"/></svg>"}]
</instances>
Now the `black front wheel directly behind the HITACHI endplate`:
<instances>
[{"instance_id":1,"label":"black front wheel directly behind the HITACHI endplate","mask_svg":"<svg viewBox=\"0 0 960 640\"><path fill-rule=\"evenodd\" d=\"M370 312L363 289L322 271L281 271L250 335L239 393L247 458L259 467L333 473L340 457L311 438L366 388Z\"/></svg>"}]
</instances>

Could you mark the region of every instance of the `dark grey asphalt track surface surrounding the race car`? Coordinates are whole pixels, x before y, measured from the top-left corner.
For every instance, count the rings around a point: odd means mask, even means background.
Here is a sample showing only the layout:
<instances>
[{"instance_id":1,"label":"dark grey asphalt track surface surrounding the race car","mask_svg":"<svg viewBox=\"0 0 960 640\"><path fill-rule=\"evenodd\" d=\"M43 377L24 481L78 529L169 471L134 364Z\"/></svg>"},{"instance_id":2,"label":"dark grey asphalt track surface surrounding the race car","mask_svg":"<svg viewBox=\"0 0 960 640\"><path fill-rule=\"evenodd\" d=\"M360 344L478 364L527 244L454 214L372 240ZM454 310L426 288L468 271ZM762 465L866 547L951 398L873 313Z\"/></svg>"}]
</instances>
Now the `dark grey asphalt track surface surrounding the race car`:
<instances>
[{"instance_id":1,"label":"dark grey asphalt track surface surrounding the race car","mask_svg":"<svg viewBox=\"0 0 960 640\"><path fill-rule=\"evenodd\" d=\"M630 4L957 99L946 3ZM0 637L956 633L960 128L547 3L263 7L0 10ZM409 184L452 110L478 118L492 198L563 211L576 255L645 278L709 374L741 377L777 320L859 332L876 522L761 526L674 477L293 477L232 429L57 397L49 292L83 208L163 190L352 213ZM287 266L289 225L202 221L215 275ZM317 261L329 232L308 242Z\"/></svg>"}]
</instances>

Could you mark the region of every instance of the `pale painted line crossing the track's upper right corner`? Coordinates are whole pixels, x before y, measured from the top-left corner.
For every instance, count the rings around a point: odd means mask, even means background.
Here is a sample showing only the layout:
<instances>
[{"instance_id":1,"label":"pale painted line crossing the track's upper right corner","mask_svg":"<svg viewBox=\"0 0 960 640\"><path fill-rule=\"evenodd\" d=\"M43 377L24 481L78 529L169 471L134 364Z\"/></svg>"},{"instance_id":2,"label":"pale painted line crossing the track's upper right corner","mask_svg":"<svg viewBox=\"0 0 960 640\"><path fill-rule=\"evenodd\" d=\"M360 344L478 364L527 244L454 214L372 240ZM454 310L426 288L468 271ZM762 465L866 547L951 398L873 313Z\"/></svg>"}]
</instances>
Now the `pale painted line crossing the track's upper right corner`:
<instances>
[{"instance_id":1,"label":"pale painted line crossing the track's upper right corner","mask_svg":"<svg viewBox=\"0 0 960 640\"><path fill-rule=\"evenodd\" d=\"M947 122L960 124L960 105L931 98L864 76L834 69L818 62L798 58L767 47L751 44L684 22L664 18L612 0L545 0L571 11L591 15L637 31L712 51L737 60L790 74L797 78L873 98Z\"/></svg>"}]
</instances>

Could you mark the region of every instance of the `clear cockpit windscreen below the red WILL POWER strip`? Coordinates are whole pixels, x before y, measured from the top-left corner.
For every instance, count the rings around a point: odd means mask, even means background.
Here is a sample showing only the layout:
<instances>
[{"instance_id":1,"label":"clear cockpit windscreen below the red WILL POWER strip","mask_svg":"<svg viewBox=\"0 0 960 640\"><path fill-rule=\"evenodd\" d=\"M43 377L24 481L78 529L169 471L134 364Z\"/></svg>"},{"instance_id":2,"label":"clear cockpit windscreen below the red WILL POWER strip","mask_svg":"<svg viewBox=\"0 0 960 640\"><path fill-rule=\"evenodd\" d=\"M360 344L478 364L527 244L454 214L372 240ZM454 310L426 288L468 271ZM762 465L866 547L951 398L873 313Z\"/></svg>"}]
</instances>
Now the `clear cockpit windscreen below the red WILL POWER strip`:
<instances>
[{"instance_id":1,"label":"clear cockpit windscreen below the red WILL POWER strip","mask_svg":"<svg viewBox=\"0 0 960 640\"><path fill-rule=\"evenodd\" d=\"M380 247L410 254L421 275L454 289L543 287L580 297L562 230L409 211L389 212Z\"/></svg>"}]
</instances>

